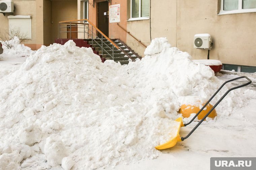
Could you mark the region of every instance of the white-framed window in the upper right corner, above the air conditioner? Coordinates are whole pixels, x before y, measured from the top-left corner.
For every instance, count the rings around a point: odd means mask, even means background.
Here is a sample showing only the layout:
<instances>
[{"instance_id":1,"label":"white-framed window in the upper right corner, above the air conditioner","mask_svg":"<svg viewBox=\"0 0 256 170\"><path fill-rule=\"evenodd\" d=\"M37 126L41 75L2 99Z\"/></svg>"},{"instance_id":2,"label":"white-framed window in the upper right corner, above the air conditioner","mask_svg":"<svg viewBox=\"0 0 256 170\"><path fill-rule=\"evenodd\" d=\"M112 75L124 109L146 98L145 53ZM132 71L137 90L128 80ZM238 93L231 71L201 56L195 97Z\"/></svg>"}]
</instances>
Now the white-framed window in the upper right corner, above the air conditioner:
<instances>
[{"instance_id":1,"label":"white-framed window in the upper right corner, above the air conditioner","mask_svg":"<svg viewBox=\"0 0 256 170\"><path fill-rule=\"evenodd\" d=\"M256 0L221 0L219 14L256 12Z\"/></svg>"}]
</instances>

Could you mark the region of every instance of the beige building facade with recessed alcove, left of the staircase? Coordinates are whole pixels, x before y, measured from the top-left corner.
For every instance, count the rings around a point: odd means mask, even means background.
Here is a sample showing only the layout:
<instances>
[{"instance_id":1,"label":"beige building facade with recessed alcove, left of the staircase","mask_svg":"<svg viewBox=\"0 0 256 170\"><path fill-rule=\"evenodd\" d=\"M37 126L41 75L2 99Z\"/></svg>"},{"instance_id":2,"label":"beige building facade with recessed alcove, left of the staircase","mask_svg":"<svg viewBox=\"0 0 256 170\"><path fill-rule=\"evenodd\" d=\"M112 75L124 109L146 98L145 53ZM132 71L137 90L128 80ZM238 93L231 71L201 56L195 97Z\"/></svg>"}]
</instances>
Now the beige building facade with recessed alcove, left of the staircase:
<instances>
[{"instance_id":1,"label":"beige building facade with recessed alcove, left of the staircase","mask_svg":"<svg viewBox=\"0 0 256 170\"><path fill-rule=\"evenodd\" d=\"M0 4L1 1L0 0ZM39 49L42 45L50 45L58 38L59 21L77 19L76 0L14 0L13 13L0 13L0 32L10 30L14 23L20 28L26 27L29 36L24 44L32 50ZM30 18L31 24L24 25L24 18ZM12 21L14 20L14 21Z\"/></svg>"}]
</instances>

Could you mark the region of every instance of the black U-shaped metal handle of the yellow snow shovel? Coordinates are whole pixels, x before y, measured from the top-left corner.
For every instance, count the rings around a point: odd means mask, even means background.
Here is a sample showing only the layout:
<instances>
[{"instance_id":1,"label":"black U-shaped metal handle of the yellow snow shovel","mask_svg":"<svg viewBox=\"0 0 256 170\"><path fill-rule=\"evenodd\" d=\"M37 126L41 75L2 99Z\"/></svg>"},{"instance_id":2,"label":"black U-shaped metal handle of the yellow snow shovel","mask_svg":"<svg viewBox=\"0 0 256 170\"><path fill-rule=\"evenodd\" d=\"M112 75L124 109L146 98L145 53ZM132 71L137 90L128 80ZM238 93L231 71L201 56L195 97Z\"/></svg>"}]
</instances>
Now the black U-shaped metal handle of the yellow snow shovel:
<instances>
[{"instance_id":1,"label":"black U-shaped metal handle of the yellow snow shovel","mask_svg":"<svg viewBox=\"0 0 256 170\"><path fill-rule=\"evenodd\" d=\"M216 106L224 99L224 97L232 90L238 89L238 88L242 88L244 86L247 86L248 84L250 84L252 82L252 80L250 80L247 76L241 76L241 77L236 77L233 79L230 79L228 81L225 81L221 87L215 92L215 94L205 103L205 105L199 110L199 112L190 120L190 122L185 123L184 126L189 125L198 115L199 113L201 113L201 111L210 103L210 101L216 96L216 94L223 88L223 86L231 81L237 80L237 79L241 79L241 78L246 78L248 80L247 83L244 83L242 85L233 87L231 89L229 89L221 98L220 100L213 106L213 108L199 121L199 123L189 132L189 134L185 137L181 137L181 140L183 141L184 139L188 138L194 131L195 129L204 121L204 119L206 119L207 116L209 116L209 114L216 108Z\"/></svg>"}]
</instances>

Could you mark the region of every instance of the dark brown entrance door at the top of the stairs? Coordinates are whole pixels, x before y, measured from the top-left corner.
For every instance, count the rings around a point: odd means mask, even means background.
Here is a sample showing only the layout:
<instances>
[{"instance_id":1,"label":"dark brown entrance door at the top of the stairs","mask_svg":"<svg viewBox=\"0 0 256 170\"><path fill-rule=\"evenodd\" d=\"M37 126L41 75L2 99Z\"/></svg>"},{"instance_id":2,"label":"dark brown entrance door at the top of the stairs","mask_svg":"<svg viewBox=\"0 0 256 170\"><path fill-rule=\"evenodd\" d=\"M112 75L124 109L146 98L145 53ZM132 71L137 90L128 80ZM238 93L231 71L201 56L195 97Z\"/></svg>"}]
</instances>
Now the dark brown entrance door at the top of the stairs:
<instances>
[{"instance_id":1,"label":"dark brown entrance door at the top of the stairs","mask_svg":"<svg viewBox=\"0 0 256 170\"><path fill-rule=\"evenodd\" d=\"M99 2L97 4L98 7L98 29L108 37L108 1ZM101 38L100 33L98 33L98 37Z\"/></svg>"}]
</instances>

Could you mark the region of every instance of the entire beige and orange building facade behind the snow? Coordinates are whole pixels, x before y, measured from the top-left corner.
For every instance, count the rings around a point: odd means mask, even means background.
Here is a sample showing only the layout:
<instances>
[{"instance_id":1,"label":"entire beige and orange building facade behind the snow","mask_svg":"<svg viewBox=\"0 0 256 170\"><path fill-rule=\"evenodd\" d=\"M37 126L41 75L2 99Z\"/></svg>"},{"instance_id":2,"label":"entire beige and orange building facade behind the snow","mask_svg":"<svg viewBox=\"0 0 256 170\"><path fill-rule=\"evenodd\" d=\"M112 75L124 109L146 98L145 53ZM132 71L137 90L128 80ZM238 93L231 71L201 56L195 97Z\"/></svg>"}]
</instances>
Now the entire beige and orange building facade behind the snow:
<instances>
[{"instance_id":1,"label":"entire beige and orange building facade behind the snow","mask_svg":"<svg viewBox=\"0 0 256 170\"><path fill-rule=\"evenodd\" d=\"M210 59L230 67L256 68L255 0L13 2L14 15L31 16L32 39L25 44L32 49L54 43L59 34L59 21L87 18L109 38L120 39L140 56L152 39L166 37L172 46L188 52L193 59L207 59L208 50L194 48L194 35L207 33L213 42ZM109 23L109 6L117 4L120 21ZM7 16L0 15L1 25L8 25Z\"/></svg>"}]
</instances>

